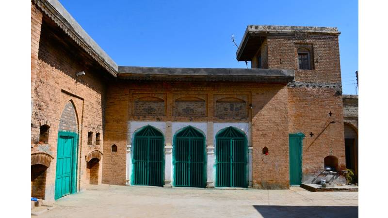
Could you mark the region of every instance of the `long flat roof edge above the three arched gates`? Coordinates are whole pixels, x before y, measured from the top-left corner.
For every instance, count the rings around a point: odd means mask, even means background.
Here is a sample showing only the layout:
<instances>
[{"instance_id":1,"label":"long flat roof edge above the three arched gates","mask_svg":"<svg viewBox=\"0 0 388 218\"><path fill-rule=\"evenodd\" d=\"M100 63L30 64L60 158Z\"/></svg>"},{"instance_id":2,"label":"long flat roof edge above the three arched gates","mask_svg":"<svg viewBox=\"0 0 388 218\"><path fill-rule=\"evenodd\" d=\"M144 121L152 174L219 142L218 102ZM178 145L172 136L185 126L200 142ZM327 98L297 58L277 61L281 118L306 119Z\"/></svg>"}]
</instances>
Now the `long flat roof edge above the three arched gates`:
<instances>
[{"instance_id":1,"label":"long flat roof edge above the three arched gates","mask_svg":"<svg viewBox=\"0 0 388 218\"><path fill-rule=\"evenodd\" d=\"M294 70L245 68L170 68L118 66L118 77L132 80L255 81L287 83Z\"/></svg>"}]
</instances>

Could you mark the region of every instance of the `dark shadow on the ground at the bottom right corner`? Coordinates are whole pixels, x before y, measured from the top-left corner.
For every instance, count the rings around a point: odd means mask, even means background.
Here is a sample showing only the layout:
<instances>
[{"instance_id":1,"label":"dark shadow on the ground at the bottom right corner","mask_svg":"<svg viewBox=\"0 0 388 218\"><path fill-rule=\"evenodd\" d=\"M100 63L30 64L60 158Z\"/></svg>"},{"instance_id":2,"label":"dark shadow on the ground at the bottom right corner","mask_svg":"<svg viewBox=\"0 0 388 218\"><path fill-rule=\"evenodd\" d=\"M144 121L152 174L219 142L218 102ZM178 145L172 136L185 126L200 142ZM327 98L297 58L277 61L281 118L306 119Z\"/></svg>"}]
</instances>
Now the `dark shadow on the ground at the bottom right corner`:
<instances>
[{"instance_id":1,"label":"dark shadow on the ground at the bottom right corner","mask_svg":"<svg viewBox=\"0 0 388 218\"><path fill-rule=\"evenodd\" d=\"M253 205L264 218L357 218L358 206L272 206Z\"/></svg>"}]
</instances>

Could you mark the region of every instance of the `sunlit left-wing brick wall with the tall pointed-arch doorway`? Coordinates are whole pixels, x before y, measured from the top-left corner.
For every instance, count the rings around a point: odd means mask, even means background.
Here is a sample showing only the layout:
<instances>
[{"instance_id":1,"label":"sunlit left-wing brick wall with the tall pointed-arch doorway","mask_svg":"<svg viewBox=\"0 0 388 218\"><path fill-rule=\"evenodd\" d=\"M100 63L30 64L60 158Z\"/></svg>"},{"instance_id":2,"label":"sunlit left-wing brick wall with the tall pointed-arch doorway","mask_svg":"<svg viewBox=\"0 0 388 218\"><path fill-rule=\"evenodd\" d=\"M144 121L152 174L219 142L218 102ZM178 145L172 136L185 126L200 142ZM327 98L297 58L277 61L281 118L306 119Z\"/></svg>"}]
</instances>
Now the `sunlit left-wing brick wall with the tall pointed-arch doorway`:
<instances>
[{"instance_id":1,"label":"sunlit left-wing brick wall with the tall pointed-arch doorway","mask_svg":"<svg viewBox=\"0 0 388 218\"><path fill-rule=\"evenodd\" d=\"M89 183L84 156L92 150L102 150L103 146L102 143L87 146L87 132L90 128L104 138L102 117L107 78L102 75L107 73L34 4L31 11L32 76L35 81L32 83L31 153L44 152L54 157L47 170L45 198L47 202L53 202L59 120L66 104L72 101L79 134L77 187L82 189ZM75 74L80 71L86 75L77 78ZM40 123L50 126L49 139L42 144L37 143Z\"/></svg>"}]
</instances>

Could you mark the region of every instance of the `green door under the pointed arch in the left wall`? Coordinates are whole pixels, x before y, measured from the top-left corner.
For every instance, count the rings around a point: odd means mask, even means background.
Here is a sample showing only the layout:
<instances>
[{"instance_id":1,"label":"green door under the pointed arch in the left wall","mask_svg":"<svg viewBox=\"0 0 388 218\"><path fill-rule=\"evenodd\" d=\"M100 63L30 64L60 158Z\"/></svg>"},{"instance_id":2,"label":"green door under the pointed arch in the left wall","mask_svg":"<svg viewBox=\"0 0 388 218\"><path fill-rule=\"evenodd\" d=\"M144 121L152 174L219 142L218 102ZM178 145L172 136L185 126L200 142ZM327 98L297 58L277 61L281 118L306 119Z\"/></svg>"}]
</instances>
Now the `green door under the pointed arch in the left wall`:
<instances>
[{"instance_id":1,"label":"green door under the pointed arch in the left wall","mask_svg":"<svg viewBox=\"0 0 388 218\"><path fill-rule=\"evenodd\" d=\"M60 132L58 134L55 199L74 193L76 190L76 144L76 133Z\"/></svg>"}]
</instances>

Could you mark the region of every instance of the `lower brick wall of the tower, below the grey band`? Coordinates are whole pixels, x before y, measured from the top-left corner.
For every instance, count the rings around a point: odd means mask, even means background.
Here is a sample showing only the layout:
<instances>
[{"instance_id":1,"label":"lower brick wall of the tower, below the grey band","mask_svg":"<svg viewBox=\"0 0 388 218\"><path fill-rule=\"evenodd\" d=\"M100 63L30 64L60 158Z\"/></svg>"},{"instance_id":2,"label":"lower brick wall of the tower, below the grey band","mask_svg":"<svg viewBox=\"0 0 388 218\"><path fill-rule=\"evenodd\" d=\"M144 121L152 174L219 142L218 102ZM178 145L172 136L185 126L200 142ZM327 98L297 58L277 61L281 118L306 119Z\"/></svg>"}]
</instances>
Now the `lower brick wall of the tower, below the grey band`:
<instances>
[{"instance_id":1,"label":"lower brick wall of the tower, below the grey band","mask_svg":"<svg viewBox=\"0 0 388 218\"><path fill-rule=\"evenodd\" d=\"M289 132L302 132L303 174L323 171L324 157L336 156L345 165L342 96L334 88L288 88ZM332 112L330 116L329 113ZM335 123L330 124L334 121ZM311 137L309 134L313 133Z\"/></svg>"}]
</instances>

